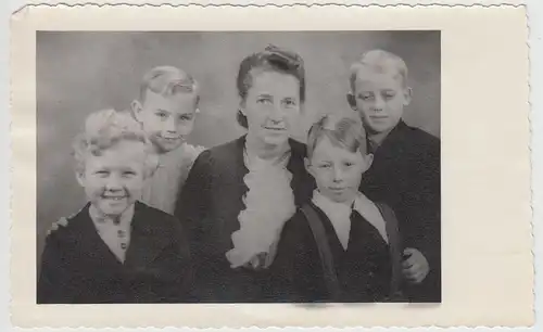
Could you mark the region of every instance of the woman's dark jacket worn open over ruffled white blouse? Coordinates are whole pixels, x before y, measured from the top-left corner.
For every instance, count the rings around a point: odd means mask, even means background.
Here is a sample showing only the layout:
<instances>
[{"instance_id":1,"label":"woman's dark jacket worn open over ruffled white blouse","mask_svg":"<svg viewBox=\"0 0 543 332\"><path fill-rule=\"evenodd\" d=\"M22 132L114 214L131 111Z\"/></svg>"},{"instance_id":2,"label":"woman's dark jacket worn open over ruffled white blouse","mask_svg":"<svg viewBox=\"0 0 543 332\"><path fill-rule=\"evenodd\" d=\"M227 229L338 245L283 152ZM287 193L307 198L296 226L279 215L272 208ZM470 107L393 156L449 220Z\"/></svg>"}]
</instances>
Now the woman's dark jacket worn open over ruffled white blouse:
<instances>
[{"instance_id":1,"label":"woman's dark jacket worn open over ruffled white blouse","mask_svg":"<svg viewBox=\"0 0 543 332\"><path fill-rule=\"evenodd\" d=\"M290 140L287 168L292 173L295 204L306 202L313 179L304 167L305 145ZM194 162L185 182L175 215L188 231L194 263L194 294L206 303L273 302L269 271L230 268L226 253L233 247L231 234L239 230L239 213L248 188L243 159L245 137L206 150ZM273 204L273 202L272 202Z\"/></svg>"}]
</instances>

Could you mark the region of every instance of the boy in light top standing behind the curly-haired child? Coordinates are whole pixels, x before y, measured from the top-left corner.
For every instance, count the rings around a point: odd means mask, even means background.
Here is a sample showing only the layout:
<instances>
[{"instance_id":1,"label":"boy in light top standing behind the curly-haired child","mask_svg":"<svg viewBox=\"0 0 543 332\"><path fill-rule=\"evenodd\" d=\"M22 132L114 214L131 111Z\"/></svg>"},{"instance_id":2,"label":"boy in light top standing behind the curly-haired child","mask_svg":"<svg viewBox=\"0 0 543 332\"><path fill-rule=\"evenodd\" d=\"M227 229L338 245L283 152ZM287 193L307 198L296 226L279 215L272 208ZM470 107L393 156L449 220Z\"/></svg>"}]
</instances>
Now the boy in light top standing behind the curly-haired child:
<instances>
[{"instance_id":1,"label":"boy in light top standing behind the curly-haired child","mask_svg":"<svg viewBox=\"0 0 543 332\"><path fill-rule=\"evenodd\" d=\"M191 75L173 66L157 66L143 76L129 111L159 155L159 165L140 201L171 215L192 164L204 151L186 142L199 112L199 93L198 81ZM62 217L48 233L66 225L67 219Z\"/></svg>"}]
</instances>

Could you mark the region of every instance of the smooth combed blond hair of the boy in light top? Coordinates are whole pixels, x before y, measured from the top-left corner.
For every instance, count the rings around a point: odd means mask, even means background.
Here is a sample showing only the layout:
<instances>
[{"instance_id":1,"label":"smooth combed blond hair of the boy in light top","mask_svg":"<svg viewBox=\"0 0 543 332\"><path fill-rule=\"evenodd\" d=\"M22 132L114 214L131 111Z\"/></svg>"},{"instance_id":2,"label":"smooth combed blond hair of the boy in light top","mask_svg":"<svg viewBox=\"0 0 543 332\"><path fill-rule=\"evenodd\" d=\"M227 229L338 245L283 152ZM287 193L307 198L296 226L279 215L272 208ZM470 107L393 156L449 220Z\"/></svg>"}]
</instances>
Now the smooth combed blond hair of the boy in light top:
<instances>
[{"instance_id":1,"label":"smooth combed blond hair of the boy in light top","mask_svg":"<svg viewBox=\"0 0 543 332\"><path fill-rule=\"evenodd\" d=\"M141 80L139 97L146 100L147 91L152 91L164 97L176 93L192 93L195 102L200 98L200 86L188 73L174 66L157 66L149 71Z\"/></svg>"}]
</instances>

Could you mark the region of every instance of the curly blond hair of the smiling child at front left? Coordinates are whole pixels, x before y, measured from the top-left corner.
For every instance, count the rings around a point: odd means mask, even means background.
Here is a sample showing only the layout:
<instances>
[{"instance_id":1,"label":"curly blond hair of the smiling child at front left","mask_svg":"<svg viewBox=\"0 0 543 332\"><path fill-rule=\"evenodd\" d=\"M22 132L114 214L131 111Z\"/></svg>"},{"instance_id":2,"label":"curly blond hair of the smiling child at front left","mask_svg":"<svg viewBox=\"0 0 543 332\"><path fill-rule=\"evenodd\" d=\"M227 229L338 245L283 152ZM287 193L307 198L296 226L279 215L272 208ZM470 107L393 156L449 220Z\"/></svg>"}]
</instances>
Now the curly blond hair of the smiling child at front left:
<instances>
[{"instance_id":1,"label":"curly blond hair of the smiling child at front left","mask_svg":"<svg viewBox=\"0 0 543 332\"><path fill-rule=\"evenodd\" d=\"M159 165L159 157L154 153L151 141L148 139L141 125L128 112L101 110L89 114L85 120L85 129L74 142L74 157L76 171L85 171L85 162L89 154L100 155L119 141L137 141L144 144L147 152L146 175L150 176Z\"/></svg>"}]
</instances>

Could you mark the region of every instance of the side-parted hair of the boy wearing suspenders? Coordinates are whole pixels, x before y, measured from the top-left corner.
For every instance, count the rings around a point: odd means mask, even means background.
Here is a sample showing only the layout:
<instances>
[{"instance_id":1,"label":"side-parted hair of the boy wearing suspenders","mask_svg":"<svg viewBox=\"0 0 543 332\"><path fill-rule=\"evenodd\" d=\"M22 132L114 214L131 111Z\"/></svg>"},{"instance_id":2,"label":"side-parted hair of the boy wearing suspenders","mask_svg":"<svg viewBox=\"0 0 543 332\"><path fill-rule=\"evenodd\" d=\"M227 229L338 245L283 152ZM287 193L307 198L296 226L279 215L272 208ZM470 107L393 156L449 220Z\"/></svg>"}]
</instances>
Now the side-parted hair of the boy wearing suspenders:
<instances>
[{"instance_id":1,"label":"side-parted hair of the boy wearing suspenders","mask_svg":"<svg viewBox=\"0 0 543 332\"><path fill-rule=\"evenodd\" d=\"M317 144L327 137L330 142L352 153L367 154L366 131L362 124L350 117L325 115L307 133L307 157L311 159Z\"/></svg>"}]
</instances>

